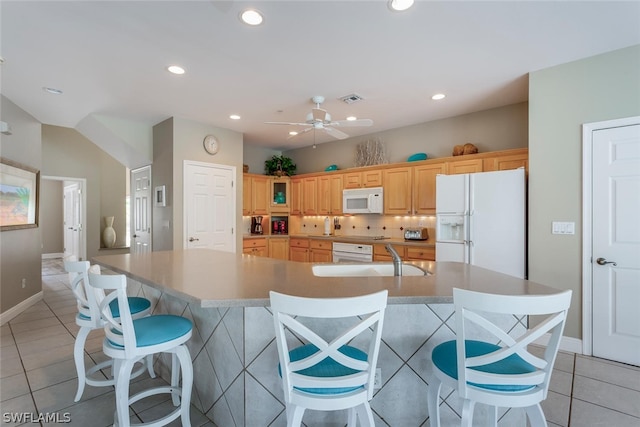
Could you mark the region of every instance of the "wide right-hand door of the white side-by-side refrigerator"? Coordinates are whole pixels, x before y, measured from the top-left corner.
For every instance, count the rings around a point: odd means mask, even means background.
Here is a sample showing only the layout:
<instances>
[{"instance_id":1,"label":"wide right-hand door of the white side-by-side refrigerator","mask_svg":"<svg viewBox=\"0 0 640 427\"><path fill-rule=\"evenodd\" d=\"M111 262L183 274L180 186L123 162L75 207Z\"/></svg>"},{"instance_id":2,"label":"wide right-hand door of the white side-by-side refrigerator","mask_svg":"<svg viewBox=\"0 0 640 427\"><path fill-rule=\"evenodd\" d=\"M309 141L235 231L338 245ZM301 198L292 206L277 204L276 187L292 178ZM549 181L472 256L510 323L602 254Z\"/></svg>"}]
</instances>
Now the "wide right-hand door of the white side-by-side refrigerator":
<instances>
[{"instance_id":1,"label":"wide right-hand door of the white side-by-side refrigerator","mask_svg":"<svg viewBox=\"0 0 640 427\"><path fill-rule=\"evenodd\" d=\"M470 174L469 195L469 263L524 279L524 169Z\"/></svg>"}]
</instances>

